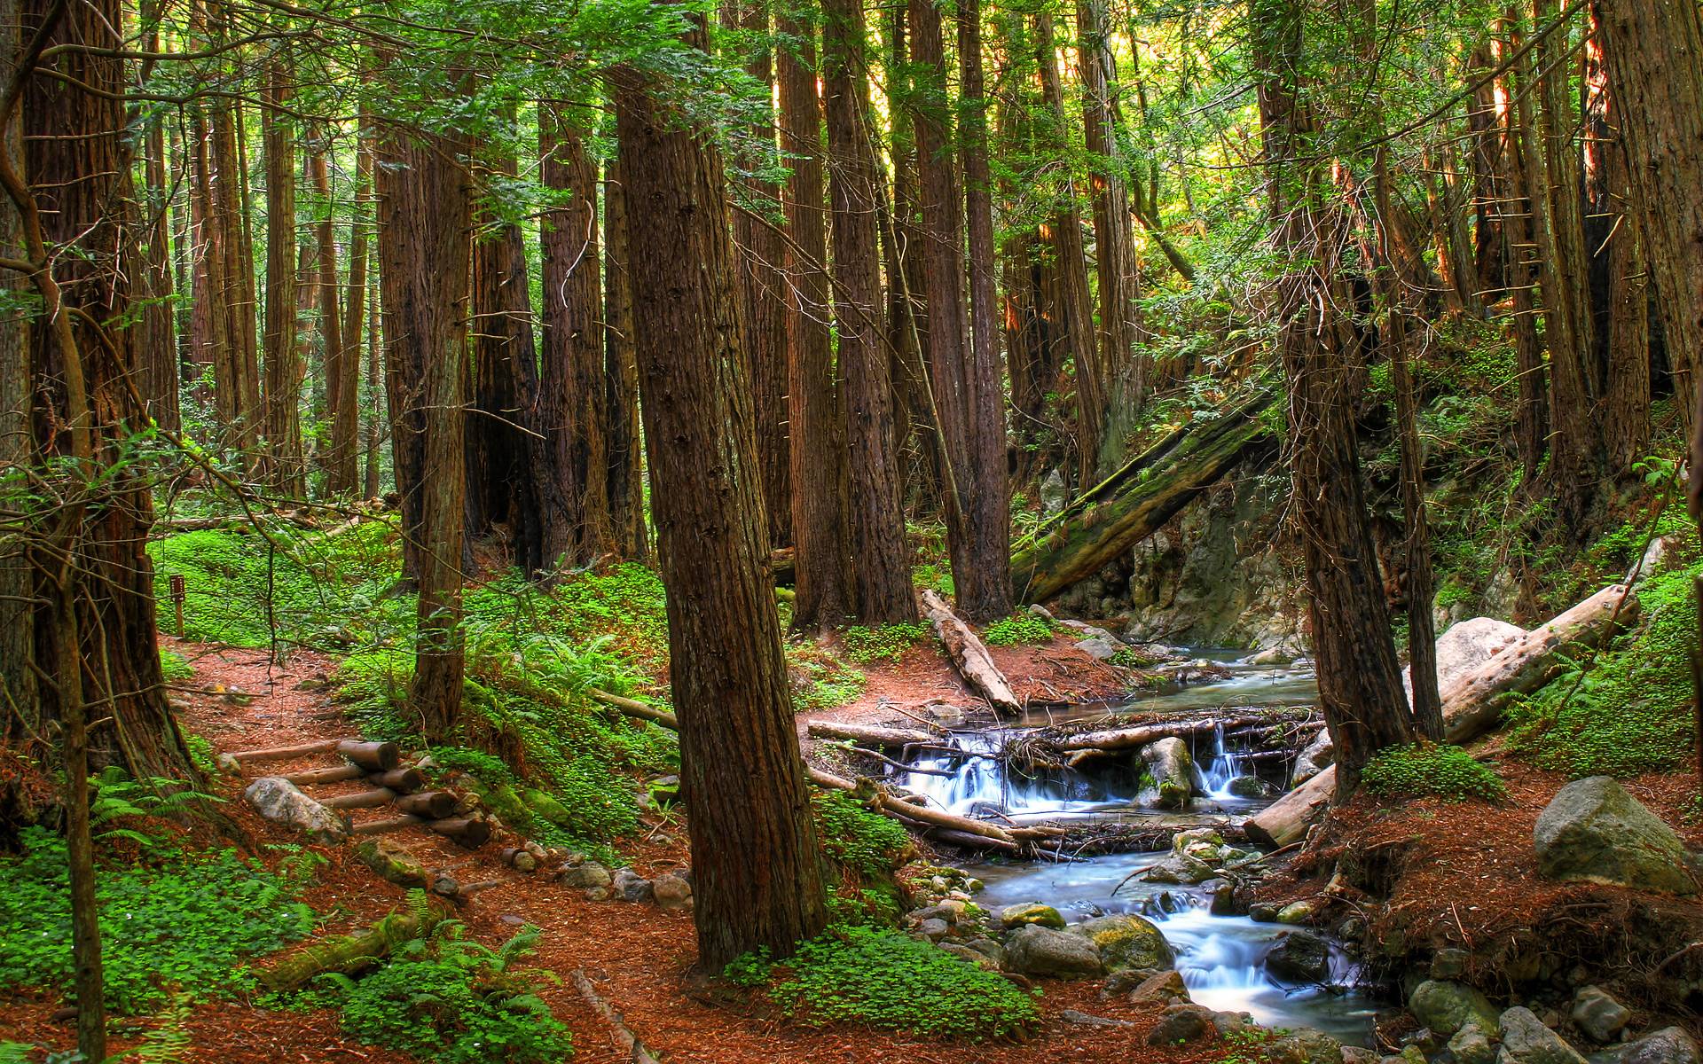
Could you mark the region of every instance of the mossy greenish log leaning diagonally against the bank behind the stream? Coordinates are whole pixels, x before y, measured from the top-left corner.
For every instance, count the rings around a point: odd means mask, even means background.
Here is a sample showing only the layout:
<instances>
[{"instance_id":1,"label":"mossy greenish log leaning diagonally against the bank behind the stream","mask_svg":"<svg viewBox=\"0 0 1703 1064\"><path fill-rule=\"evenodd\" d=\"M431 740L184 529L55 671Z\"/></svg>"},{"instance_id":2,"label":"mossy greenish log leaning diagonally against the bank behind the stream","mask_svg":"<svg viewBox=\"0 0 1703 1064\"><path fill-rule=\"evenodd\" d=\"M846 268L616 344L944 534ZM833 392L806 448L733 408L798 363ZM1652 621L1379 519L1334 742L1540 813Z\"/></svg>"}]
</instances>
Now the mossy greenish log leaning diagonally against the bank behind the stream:
<instances>
[{"instance_id":1,"label":"mossy greenish log leaning diagonally against the bank behind the stream","mask_svg":"<svg viewBox=\"0 0 1703 1064\"><path fill-rule=\"evenodd\" d=\"M1127 555L1267 436L1270 403L1262 393L1190 422L1075 499L1012 557L1017 599L1049 599Z\"/></svg>"}]
</instances>

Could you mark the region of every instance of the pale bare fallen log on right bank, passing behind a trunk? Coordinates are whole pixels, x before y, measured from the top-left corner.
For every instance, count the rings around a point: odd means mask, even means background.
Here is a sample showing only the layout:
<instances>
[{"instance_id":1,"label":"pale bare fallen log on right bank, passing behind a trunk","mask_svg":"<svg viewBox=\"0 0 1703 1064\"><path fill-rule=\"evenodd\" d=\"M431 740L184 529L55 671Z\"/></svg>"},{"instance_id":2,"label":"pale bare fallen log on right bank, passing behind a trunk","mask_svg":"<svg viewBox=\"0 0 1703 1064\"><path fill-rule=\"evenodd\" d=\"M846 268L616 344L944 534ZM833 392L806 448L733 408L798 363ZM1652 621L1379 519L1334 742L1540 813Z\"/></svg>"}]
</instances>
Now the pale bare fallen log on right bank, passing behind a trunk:
<instances>
[{"instance_id":1,"label":"pale bare fallen log on right bank, passing behind a trunk","mask_svg":"<svg viewBox=\"0 0 1703 1064\"><path fill-rule=\"evenodd\" d=\"M1470 742L1502 718L1507 695L1529 695L1562 667L1562 652L1579 644L1601 647L1616 628L1638 616L1637 596L1614 584L1592 594L1514 640L1478 669L1442 691L1442 729L1449 742ZM1248 817L1248 838L1287 846L1306 836L1306 827L1337 790L1337 768L1330 766Z\"/></svg>"}]
</instances>

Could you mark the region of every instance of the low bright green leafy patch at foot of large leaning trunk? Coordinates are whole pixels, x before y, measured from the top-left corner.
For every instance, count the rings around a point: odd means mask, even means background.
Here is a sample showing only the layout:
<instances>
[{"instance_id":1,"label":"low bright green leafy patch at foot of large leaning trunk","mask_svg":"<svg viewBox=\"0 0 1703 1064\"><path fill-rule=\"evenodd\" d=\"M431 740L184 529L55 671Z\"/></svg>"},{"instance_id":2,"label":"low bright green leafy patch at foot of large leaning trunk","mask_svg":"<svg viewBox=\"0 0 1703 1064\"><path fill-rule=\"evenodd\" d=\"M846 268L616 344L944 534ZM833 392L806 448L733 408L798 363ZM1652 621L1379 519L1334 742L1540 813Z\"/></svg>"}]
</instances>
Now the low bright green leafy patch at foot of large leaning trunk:
<instances>
[{"instance_id":1,"label":"low bright green leafy patch at foot of large leaning trunk","mask_svg":"<svg viewBox=\"0 0 1703 1064\"><path fill-rule=\"evenodd\" d=\"M1039 1025L1035 1003L1001 975L897 931L836 924L802 943L782 970L770 998L809 1027L983 1040L1022 1038Z\"/></svg>"}]
</instances>

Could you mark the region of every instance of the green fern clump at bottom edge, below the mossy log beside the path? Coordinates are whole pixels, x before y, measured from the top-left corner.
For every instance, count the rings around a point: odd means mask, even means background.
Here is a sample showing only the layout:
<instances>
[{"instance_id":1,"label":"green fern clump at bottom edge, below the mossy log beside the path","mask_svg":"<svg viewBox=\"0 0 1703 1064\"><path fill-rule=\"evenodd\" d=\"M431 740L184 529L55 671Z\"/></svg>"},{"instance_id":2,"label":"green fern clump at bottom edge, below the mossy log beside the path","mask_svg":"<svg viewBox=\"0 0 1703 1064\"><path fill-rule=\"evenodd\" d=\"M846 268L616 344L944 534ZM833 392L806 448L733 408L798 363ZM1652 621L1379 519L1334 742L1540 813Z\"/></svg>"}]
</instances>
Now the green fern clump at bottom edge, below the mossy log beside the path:
<instances>
[{"instance_id":1,"label":"green fern clump at bottom edge, below the mossy log beside the path","mask_svg":"<svg viewBox=\"0 0 1703 1064\"><path fill-rule=\"evenodd\" d=\"M526 928L492 950L439 924L431 941L405 943L359 981L327 977L341 998L342 1030L370 1045L438 1064L555 1064L574 1050L567 1027L536 994L536 972L516 969L538 945Z\"/></svg>"}]
</instances>

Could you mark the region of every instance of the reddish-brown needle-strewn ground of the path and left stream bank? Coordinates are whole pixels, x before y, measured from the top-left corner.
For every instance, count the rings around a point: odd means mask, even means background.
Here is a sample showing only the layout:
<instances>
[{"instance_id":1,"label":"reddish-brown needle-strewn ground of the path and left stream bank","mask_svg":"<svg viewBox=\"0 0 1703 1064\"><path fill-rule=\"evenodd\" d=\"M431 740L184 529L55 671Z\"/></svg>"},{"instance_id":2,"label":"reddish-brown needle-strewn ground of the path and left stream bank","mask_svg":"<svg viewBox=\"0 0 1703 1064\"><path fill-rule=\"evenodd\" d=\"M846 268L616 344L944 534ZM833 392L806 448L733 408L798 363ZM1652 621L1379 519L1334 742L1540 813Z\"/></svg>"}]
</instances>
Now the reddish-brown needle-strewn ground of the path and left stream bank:
<instances>
[{"instance_id":1,"label":"reddish-brown needle-strewn ground of the path and left stream bank","mask_svg":"<svg viewBox=\"0 0 1703 1064\"><path fill-rule=\"evenodd\" d=\"M204 735L220 752L290 746L351 732L341 720L341 710L325 695L330 661L322 655L295 652L284 664L272 664L264 650L179 640L165 640L165 645L196 669L194 679L175 691L182 703L182 725ZM1078 661L1078 655L1093 667ZM930 657L940 661L943 671L928 669ZM1078 696L1088 691L1109 696L1121 689L1110 669L1097 666L1068 644L998 649L998 659L1022 689L1069 689ZM962 700L960 689L950 689L954 684L949 683L949 674L950 666L938 654L913 649L892 666L872 667L863 698L834 710L834 715L872 715L879 712L882 700ZM1104 681L1114 686L1097 686ZM269 764L267 771L288 773L313 764L317 763L307 758L300 763ZM276 863L279 851L266 846L296 843L300 838L259 819L244 802L235 800L242 785L242 780L233 778L216 781L220 797L228 798L221 809L247 832L245 848L262 861ZM496 841L467 851L417 827L388 838L414 851L426 867L451 870L462 882L504 880L504 885L480 892L458 918L473 938L487 945L504 941L523 924L535 924L543 931L538 953L530 964L560 975L560 982L545 984L542 996L574 1030L574 1059L586 1064L613 1064L628 1057L613 1040L611 1028L576 992L569 979L574 970L582 970L598 992L623 1015L634 1033L666 1061L1015 1064L1052 1055L1122 1062L1131 1054L1141 1054L1148 1061L1206 1064L1224 1057L1223 1047L1211 1045L1150 1049L1146 1032L1158 1020L1158 1011L1117 998L1102 1001L1097 982L1046 981L1037 1001L1042 1027L1025 1044L952 1044L892 1032L790 1025L756 1006L729 999L725 992L697 979L691 970L695 936L690 914L618 901L586 901L581 890L560 887L547 875L523 875L502 865ZM303 895L320 914L318 935L349 933L405 907L405 890L375 877L351 846L312 849L327 861ZM647 817L645 834L623 843L623 855L645 877L679 870L688 861L685 824L678 815L666 822ZM1061 1018L1066 1010L1127 1020L1132 1027L1069 1023ZM58 994L0 1004L0 1037L68 1047L73 1028L70 1021L54 1018L58 1011ZM146 1021L129 1037L118 1038L116 1047L135 1045L145 1028ZM409 1061L404 1054L346 1038L337 1028L335 1013L329 1010L295 1013L264 1010L245 1001L206 1001L196 1004L186 1028L192 1037L186 1059L198 1064Z\"/></svg>"}]
</instances>

